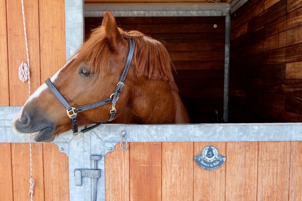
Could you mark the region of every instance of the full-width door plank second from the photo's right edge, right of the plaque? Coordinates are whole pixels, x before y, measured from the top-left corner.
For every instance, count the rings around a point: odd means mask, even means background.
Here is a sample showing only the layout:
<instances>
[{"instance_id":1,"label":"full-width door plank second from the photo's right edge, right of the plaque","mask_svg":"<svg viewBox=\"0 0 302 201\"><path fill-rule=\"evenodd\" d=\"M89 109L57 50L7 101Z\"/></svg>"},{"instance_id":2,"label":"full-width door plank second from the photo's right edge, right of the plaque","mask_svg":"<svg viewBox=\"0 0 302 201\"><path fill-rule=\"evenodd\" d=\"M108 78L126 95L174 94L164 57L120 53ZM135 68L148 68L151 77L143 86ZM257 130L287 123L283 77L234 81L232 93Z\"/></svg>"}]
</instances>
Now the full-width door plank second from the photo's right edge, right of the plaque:
<instances>
[{"instance_id":1,"label":"full-width door plank second from the photo's right edge, right of the plaque","mask_svg":"<svg viewBox=\"0 0 302 201\"><path fill-rule=\"evenodd\" d=\"M288 200L290 142L259 142L258 200Z\"/></svg>"}]
</instances>

